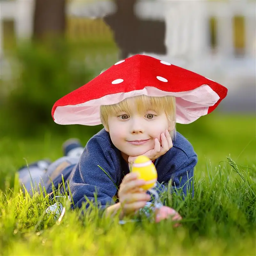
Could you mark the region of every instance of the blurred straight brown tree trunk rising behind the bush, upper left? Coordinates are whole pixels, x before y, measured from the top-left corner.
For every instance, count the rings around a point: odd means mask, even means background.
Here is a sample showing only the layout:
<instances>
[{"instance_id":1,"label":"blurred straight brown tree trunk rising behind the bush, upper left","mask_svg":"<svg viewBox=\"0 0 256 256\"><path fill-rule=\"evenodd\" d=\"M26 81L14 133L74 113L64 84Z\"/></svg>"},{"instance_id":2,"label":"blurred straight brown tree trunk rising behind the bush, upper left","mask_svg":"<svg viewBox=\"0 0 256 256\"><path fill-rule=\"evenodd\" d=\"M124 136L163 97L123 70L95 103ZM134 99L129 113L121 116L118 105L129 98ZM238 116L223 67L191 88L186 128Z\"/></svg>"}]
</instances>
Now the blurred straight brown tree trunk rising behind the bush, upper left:
<instances>
[{"instance_id":1,"label":"blurred straight brown tree trunk rising behind the bush, upper left","mask_svg":"<svg viewBox=\"0 0 256 256\"><path fill-rule=\"evenodd\" d=\"M35 0L34 39L62 36L66 28L65 0Z\"/></svg>"}]
</instances>

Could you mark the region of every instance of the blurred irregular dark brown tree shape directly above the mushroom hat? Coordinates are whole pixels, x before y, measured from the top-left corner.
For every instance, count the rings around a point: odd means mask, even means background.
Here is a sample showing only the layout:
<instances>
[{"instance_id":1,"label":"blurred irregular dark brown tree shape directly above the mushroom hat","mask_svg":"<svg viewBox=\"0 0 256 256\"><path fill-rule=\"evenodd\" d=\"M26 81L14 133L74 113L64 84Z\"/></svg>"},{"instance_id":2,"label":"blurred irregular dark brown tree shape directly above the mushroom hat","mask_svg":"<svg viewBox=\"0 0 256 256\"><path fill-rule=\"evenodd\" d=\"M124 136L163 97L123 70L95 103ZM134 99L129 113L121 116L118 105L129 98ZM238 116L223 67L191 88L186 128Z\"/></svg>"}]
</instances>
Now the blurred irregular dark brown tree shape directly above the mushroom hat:
<instances>
[{"instance_id":1,"label":"blurred irregular dark brown tree shape directly above the mushroom hat","mask_svg":"<svg viewBox=\"0 0 256 256\"><path fill-rule=\"evenodd\" d=\"M138 0L114 0L116 12L104 17L112 29L115 42L121 51L120 58L129 54L153 52L166 54L165 22L140 20L134 13Z\"/></svg>"}]
</instances>

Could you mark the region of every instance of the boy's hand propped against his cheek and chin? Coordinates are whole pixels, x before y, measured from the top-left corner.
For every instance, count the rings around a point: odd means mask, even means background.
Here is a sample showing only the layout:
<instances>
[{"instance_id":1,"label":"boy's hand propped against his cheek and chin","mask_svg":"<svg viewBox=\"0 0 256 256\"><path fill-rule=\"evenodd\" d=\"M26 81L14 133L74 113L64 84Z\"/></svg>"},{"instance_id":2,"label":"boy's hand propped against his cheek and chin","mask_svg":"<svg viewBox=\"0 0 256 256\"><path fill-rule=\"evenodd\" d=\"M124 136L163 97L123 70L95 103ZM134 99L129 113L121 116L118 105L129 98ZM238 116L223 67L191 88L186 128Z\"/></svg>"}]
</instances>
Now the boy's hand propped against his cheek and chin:
<instances>
[{"instance_id":1,"label":"boy's hand propped against his cheek and chin","mask_svg":"<svg viewBox=\"0 0 256 256\"><path fill-rule=\"evenodd\" d=\"M160 134L161 143L158 139L155 139L155 147L148 150L143 156L147 156L150 160L155 160L159 156L163 156L170 148L172 148L172 137L168 130ZM162 145L161 145L162 144ZM128 162L132 164L137 156L129 156Z\"/></svg>"}]
</instances>

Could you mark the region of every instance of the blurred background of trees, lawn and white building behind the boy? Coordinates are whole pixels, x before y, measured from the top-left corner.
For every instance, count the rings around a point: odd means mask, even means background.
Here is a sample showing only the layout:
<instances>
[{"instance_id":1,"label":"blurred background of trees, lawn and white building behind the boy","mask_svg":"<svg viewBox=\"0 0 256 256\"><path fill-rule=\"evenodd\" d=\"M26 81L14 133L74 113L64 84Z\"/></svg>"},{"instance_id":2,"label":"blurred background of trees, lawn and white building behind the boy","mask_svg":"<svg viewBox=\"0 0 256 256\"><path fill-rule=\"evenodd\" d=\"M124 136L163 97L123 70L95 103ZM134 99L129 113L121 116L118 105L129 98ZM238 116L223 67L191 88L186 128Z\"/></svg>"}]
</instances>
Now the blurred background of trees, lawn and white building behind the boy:
<instances>
[{"instance_id":1,"label":"blurred background of trees, lawn and white building behind the boy","mask_svg":"<svg viewBox=\"0 0 256 256\"><path fill-rule=\"evenodd\" d=\"M54 102L136 53L226 86L214 113L177 129L199 160L217 163L230 154L255 170L255 4L0 0L1 172L14 171L24 157L54 160L68 137L85 144L102 126L57 125Z\"/></svg>"}]
</instances>

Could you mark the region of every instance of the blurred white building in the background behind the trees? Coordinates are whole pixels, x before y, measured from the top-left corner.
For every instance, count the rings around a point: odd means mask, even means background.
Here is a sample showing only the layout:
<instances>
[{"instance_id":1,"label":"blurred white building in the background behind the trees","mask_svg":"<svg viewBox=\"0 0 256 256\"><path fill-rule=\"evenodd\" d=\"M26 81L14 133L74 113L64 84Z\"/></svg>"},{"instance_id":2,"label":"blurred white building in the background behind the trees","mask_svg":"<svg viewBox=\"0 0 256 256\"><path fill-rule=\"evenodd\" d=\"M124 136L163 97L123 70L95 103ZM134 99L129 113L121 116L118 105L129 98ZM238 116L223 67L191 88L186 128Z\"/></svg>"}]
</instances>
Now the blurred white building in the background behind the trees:
<instances>
[{"instance_id":1,"label":"blurred white building in the background behind the trees","mask_svg":"<svg viewBox=\"0 0 256 256\"><path fill-rule=\"evenodd\" d=\"M240 92L243 86L243 92L248 90L255 99L255 4L253 0L141 0L135 11L141 19L166 22L167 54L146 54L207 76L227 86L231 95ZM3 20L14 20L18 41L29 38L34 0L2 0L0 5L0 56L3 56ZM98 18L114 11L108 0L74 0L67 6L67 15L80 17ZM211 19L215 28L212 30ZM244 44L240 46L234 40L237 19L242 21L240 27L244 31Z\"/></svg>"}]
</instances>

